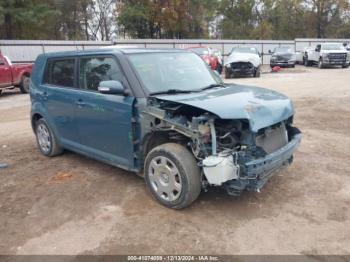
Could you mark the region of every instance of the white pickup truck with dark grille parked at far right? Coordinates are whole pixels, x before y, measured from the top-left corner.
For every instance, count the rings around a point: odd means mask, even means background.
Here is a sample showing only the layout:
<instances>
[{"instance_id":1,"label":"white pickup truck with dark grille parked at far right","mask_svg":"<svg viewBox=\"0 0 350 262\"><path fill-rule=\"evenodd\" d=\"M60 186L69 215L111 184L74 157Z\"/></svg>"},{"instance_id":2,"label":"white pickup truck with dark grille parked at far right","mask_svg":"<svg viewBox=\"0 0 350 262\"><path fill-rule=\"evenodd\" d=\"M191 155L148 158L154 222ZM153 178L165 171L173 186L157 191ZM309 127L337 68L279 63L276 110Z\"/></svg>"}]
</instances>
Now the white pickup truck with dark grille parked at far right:
<instances>
[{"instance_id":1,"label":"white pickup truck with dark grille parked at far right","mask_svg":"<svg viewBox=\"0 0 350 262\"><path fill-rule=\"evenodd\" d=\"M317 64L319 68L325 66L349 67L350 53L341 43L323 43L307 50L305 66Z\"/></svg>"}]
</instances>

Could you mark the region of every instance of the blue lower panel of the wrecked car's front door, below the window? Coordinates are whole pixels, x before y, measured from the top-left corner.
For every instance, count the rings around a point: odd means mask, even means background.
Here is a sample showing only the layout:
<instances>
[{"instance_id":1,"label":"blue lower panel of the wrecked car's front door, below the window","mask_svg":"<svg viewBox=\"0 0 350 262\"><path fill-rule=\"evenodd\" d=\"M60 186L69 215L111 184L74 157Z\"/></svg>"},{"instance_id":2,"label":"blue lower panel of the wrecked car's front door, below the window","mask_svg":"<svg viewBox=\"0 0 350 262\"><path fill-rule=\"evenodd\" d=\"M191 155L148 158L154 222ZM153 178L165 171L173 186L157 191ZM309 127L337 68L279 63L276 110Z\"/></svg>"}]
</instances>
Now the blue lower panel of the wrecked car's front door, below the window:
<instances>
[{"instance_id":1,"label":"blue lower panel of the wrecked car's front door, below the window","mask_svg":"<svg viewBox=\"0 0 350 262\"><path fill-rule=\"evenodd\" d=\"M79 90L74 115L80 149L103 161L134 168L133 97Z\"/></svg>"}]
</instances>

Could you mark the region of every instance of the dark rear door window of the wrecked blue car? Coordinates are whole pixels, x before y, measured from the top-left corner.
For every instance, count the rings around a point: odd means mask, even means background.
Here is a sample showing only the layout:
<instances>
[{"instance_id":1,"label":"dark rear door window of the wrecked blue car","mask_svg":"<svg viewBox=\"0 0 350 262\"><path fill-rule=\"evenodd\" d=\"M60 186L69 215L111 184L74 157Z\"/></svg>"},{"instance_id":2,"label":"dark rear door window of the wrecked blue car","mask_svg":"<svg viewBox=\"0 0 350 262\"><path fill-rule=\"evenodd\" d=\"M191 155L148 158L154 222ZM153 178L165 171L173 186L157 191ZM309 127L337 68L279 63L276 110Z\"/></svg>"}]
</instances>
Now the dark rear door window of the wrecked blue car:
<instances>
[{"instance_id":1,"label":"dark rear door window of the wrecked blue car","mask_svg":"<svg viewBox=\"0 0 350 262\"><path fill-rule=\"evenodd\" d=\"M75 59L50 60L47 64L44 83L54 86L74 87Z\"/></svg>"}]
</instances>

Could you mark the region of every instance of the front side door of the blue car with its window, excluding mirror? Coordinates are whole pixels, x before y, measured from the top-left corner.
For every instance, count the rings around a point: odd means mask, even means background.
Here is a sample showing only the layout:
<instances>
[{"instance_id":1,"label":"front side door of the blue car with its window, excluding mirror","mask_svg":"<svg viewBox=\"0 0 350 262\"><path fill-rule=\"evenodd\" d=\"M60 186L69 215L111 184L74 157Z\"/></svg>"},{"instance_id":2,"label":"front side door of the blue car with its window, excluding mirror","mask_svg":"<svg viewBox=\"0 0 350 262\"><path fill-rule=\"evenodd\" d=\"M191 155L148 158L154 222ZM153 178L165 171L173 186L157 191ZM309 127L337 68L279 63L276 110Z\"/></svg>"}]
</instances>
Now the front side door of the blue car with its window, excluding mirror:
<instances>
[{"instance_id":1,"label":"front side door of the blue car with its window, excluding mirror","mask_svg":"<svg viewBox=\"0 0 350 262\"><path fill-rule=\"evenodd\" d=\"M127 83L114 56L90 56L79 59L79 96L77 125L84 151L108 163L132 169L133 132L132 96L102 94L101 81Z\"/></svg>"}]
</instances>

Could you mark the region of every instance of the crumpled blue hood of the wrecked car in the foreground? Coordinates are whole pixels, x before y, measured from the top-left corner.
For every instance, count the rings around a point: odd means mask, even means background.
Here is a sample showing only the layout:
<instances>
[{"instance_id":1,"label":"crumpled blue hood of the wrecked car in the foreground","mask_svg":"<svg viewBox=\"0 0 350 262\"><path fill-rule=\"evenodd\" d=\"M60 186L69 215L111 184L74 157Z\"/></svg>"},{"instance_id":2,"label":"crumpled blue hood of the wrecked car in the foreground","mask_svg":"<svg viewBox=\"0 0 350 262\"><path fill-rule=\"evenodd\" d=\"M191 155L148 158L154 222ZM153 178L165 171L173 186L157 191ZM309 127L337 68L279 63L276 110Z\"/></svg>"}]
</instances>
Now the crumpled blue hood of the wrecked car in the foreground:
<instances>
[{"instance_id":1,"label":"crumpled blue hood of the wrecked car in the foreground","mask_svg":"<svg viewBox=\"0 0 350 262\"><path fill-rule=\"evenodd\" d=\"M194 106L222 119L247 119L253 132L294 114L292 101L275 91L243 85L200 93L157 95L158 99Z\"/></svg>"}]
</instances>

